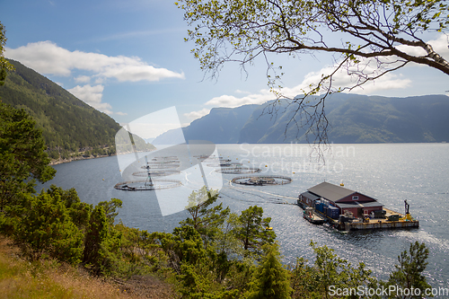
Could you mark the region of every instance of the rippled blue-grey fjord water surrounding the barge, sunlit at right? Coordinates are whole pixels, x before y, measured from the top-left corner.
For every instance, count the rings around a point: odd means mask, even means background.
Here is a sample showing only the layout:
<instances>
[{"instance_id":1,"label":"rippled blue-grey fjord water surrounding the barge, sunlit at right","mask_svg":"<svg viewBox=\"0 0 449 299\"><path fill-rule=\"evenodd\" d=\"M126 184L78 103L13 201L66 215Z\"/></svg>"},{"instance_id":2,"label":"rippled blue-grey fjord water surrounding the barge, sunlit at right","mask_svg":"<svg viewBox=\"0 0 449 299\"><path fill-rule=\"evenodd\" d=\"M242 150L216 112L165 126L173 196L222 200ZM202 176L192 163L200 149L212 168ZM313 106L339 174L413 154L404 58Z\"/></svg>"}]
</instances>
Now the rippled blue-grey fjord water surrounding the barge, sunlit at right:
<instances>
[{"instance_id":1,"label":"rippled blue-grey fjord water surrounding the barge, sunlit at right","mask_svg":"<svg viewBox=\"0 0 449 299\"><path fill-rule=\"evenodd\" d=\"M353 265L365 262L375 277L386 279L410 242L426 242L430 251L427 281L431 286L449 287L449 144L331 145L331 150L325 152L324 164L316 162L308 145L217 145L217 149L233 162L293 179L281 186L233 186L229 181L237 175L223 174L219 198L233 212L252 205L263 207L264 215L272 218L271 226L286 263L295 262L296 257L312 261L309 243L313 241L333 248ZM123 207L117 218L124 224L171 233L188 216L187 212L163 216L151 191L114 189L121 181L117 159L113 156L56 165L55 179L38 187L56 184L64 189L75 188L81 200L90 204L120 198ZM345 188L376 198L401 213L407 199L410 214L419 220L420 227L341 233L309 224L301 208L293 204L299 193L323 180L343 182ZM167 192L175 194L175 190Z\"/></svg>"}]
</instances>

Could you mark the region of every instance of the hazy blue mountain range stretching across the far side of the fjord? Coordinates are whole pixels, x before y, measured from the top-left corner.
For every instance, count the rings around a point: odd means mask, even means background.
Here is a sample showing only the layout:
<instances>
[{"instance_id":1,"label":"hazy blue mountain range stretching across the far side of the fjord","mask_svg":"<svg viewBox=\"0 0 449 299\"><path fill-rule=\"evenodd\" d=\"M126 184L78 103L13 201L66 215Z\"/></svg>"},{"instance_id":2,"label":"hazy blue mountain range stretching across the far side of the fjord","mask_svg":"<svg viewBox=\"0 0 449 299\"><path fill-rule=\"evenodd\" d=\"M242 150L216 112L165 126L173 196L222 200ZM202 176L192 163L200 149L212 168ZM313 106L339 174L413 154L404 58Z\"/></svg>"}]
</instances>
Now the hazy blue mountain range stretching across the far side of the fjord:
<instances>
[{"instance_id":1,"label":"hazy blue mountain range stretching across the far side of the fjord","mask_svg":"<svg viewBox=\"0 0 449 299\"><path fill-rule=\"evenodd\" d=\"M216 144L305 143L304 129L291 126L286 130L295 107L284 104L278 110L283 113L276 117L262 115L269 103L212 109L183 128L185 139ZM333 143L449 141L449 97L445 95L389 98L334 93L326 99L325 112L330 123L328 138ZM178 143L175 133L168 131L153 144Z\"/></svg>"}]
</instances>

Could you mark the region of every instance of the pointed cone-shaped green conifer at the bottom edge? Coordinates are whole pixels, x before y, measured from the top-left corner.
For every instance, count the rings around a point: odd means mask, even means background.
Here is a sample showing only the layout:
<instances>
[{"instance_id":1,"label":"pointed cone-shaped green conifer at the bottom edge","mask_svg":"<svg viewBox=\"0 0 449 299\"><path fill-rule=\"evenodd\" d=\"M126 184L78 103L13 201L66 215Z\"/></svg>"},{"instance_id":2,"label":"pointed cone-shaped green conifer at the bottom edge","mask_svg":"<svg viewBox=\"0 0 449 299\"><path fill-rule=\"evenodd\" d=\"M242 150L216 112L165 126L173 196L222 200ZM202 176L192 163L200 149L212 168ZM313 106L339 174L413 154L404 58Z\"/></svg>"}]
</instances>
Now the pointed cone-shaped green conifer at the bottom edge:
<instances>
[{"instance_id":1,"label":"pointed cone-shaped green conifer at the bottom edge","mask_svg":"<svg viewBox=\"0 0 449 299\"><path fill-rule=\"evenodd\" d=\"M249 299L290 299L290 277L280 262L277 243L265 245L266 255L254 275Z\"/></svg>"}]
</instances>

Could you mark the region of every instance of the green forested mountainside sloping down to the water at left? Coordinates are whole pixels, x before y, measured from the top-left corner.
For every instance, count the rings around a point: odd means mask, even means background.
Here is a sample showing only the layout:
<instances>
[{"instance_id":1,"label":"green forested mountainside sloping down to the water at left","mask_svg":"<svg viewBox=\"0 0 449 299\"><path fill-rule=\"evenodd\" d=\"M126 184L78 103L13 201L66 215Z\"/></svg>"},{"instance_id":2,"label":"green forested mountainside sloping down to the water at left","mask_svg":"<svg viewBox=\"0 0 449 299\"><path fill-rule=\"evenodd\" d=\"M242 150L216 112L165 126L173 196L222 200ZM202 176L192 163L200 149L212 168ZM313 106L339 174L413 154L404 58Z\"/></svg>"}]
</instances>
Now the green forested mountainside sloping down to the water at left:
<instances>
[{"instance_id":1,"label":"green forested mountainside sloping down to the water at left","mask_svg":"<svg viewBox=\"0 0 449 299\"><path fill-rule=\"evenodd\" d=\"M115 136L121 127L114 119L31 68L9 61L15 71L0 86L0 101L26 110L36 120L50 157L88 150L94 155L115 153ZM139 137L135 140L140 147L145 145Z\"/></svg>"}]
</instances>

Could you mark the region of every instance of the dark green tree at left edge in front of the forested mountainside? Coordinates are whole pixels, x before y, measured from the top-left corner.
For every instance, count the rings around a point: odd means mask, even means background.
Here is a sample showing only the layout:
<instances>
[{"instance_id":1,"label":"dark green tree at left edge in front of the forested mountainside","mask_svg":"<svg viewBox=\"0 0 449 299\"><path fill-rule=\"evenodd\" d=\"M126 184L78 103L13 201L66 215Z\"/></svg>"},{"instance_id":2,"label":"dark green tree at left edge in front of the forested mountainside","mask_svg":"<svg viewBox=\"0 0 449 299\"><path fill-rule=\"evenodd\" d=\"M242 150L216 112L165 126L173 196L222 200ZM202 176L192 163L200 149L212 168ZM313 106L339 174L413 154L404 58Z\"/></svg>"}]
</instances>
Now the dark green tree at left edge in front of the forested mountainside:
<instances>
[{"instance_id":1,"label":"dark green tree at left edge in front of the forested mountainside","mask_svg":"<svg viewBox=\"0 0 449 299\"><path fill-rule=\"evenodd\" d=\"M35 180L53 178L45 148L31 116L0 102L0 210L18 194L34 192Z\"/></svg>"}]
</instances>

